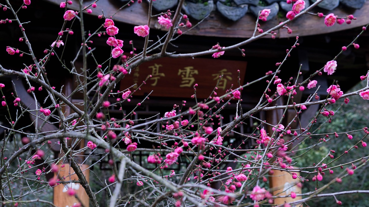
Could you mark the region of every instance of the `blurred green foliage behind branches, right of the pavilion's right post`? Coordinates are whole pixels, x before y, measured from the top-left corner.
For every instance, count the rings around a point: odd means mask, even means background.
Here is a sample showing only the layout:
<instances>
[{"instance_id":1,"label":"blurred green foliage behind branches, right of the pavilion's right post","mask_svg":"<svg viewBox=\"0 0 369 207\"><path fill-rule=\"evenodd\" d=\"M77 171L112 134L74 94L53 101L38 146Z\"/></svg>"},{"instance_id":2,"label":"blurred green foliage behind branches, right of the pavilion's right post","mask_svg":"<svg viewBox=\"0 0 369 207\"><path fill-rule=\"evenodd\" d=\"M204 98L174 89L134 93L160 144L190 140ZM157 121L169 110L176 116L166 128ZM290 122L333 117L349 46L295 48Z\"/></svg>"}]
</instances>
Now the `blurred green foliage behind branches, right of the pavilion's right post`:
<instances>
[{"instance_id":1,"label":"blurred green foliage behind branches, right of the pavilion's right post","mask_svg":"<svg viewBox=\"0 0 369 207\"><path fill-rule=\"evenodd\" d=\"M352 91L360 90L365 87L364 83L358 84L356 87L352 89ZM328 134L334 132L348 132L352 130L360 130L364 127L368 127L368 119L369 115L367 113L363 113L368 110L369 102L367 100L363 100L360 96L350 97L350 102L346 105L343 99L339 99L335 104L331 104L327 106L328 110L333 110L335 115L332 116L332 122L328 123L327 117L321 117L317 120L317 123L313 126L311 131L314 131L313 134ZM318 164L330 150L334 150L333 154L335 158L339 155L342 155L338 161L333 162L328 165L328 167L333 165L345 164L351 162L360 157L365 157L368 155L367 149L362 147L360 141L363 138L363 141L368 142L368 138L365 137L366 134L360 130L354 133L349 133L353 136L352 140L349 140L346 134L339 134L338 137L335 137L334 134L329 135L329 137L323 136L313 136L311 138L305 139L300 144L300 149L309 147L311 145L317 144L315 147L311 148L306 154L304 154L304 159L296 158L294 161L297 162L297 166L311 166L313 163ZM325 138L324 141L319 141L320 139ZM350 148L358 146L358 149L353 148L348 151ZM344 152L348 151L348 154ZM297 152L297 155L301 155L305 151ZM307 156L306 156L307 155ZM332 159L329 157L325 158L323 163L327 164L331 162ZM363 162L358 161L354 163L356 166L360 166ZM323 176L322 181L313 182L311 179L314 175L310 175L307 177L309 182L304 183L303 193L310 192L315 190L316 187L322 187L331 180L337 178L339 175L346 174L345 169L351 167L351 164L343 166L341 168L333 169L334 173L329 174L326 171L326 174ZM354 175L347 176L342 179L342 183L333 183L327 189L324 190L324 193L330 192L340 192L346 190L367 190L369 189L369 180L368 180L368 166L363 165L355 170ZM316 171L317 169L311 169L310 171ZM304 176L302 174L302 176ZM357 183L357 185L351 185L351 183ZM342 196L337 196L337 199L342 201L342 206L349 207L367 207L369 203L363 202L366 200L366 194L346 194ZM323 197L320 199L314 199L307 202L308 206L334 206L335 199L333 197Z\"/></svg>"}]
</instances>

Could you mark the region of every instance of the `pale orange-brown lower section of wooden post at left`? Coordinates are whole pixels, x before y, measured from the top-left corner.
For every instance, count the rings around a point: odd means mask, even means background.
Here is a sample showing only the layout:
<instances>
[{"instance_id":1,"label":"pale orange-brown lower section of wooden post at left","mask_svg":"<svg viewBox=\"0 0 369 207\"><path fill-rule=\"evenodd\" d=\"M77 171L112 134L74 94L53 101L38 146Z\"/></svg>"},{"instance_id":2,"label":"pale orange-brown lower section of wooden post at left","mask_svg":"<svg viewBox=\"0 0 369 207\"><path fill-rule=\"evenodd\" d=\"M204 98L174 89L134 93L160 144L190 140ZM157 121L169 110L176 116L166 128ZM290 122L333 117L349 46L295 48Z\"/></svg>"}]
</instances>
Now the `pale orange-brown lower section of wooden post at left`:
<instances>
[{"instance_id":1,"label":"pale orange-brown lower section of wooden post at left","mask_svg":"<svg viewBox=\"0 0 369 207\"><path fill-rule=\"evenodd\" d=\"M64 167L61 167L64 165ZM66 180L78 180L77 175L73 171L73 168L69 166L69 164L59 164L57 165L59 168L58 172L55 172L54 178L65 178L61 179L61 181ZM83 172L83 175L85 175L85 178L87 182L89 182L89 175L90 171L88 168L88 165L83 164L80 166L80 169ZM79 198L79 200L75 196L69 196L67 193L68 188L72 188L76 192L76 196ZM89 207L89 197L87 196L87 193L85 192L85 189L79 184L79 183L70 183L70 184L59 184L54 187L54 205L59 207L72 207L74 203L81 202L83 206Z\"/></svg>"}]
</instances>

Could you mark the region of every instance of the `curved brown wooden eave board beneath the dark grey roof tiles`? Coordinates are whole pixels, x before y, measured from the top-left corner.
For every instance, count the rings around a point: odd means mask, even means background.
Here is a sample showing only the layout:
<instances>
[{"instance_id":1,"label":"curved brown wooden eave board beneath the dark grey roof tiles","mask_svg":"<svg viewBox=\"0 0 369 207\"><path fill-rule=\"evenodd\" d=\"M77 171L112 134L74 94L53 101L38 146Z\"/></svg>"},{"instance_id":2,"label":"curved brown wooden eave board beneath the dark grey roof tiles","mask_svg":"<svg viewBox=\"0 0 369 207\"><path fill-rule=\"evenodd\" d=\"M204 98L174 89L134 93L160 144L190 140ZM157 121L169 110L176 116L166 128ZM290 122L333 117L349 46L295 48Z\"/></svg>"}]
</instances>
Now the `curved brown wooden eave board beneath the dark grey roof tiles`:
<instances>
[{"instance_id":1,"label":"curved brown wooden eave board beneath the dark grey roof tiles","mask_svg":"<svg viewBox=\"0 0 369 207\"><path fill-rule=\"evenodd\" d=\"M51 3L60 4L60 0L46 0ZM93 3L93 0L84 1L83 6L87 6ZM123 3L118 3L117 0L99 0L97 8L92 8L92 15L101 14L101 10L104 11L106 17L112 16ZM69 9L79 10L79 5L76 1L72 5L68 5ZM123 8L117 14L114 15L113 20L124 22L132 25L145 25L147 24L148 18L148 4L137 2L132 3L131 6ZM333 11L327 11L325 14L334 13L339 17L345 17L348 14L353 14L357 20L352 20L351 24L335 24L332 27L327 27L324 24L324 19L312 15L304 15L303 17L291 22L288 26L293 30L292 34L288 34L286 29L280 29L277 32L277 38L289 38L295 36L309 36L325 34L330 32L338 32L346 29L351 29L355 27L360 27L369 24L369 1L366 1L361 9L352 10L353 13L348 13L348 10L342 8L336 8ZM191 29L186 32L188 35L199 35L199 36L218 36L218 37L232 37L232 38L249 38L252 36L255 28L256 18L253 15L246 14L240 20L232 22L225 19L219 13L213 12L208 18L206 18L201 24L196 28ZM261 28L266 31L269 28L279 24L281 21L285 21L283 18L277 20L274 18L267 22L260 22ZM192 20L192 24L195 25L196 22ZM161 29L157 21L152 21L150 25L151 28Z\"/></svg>"}]
</instances>

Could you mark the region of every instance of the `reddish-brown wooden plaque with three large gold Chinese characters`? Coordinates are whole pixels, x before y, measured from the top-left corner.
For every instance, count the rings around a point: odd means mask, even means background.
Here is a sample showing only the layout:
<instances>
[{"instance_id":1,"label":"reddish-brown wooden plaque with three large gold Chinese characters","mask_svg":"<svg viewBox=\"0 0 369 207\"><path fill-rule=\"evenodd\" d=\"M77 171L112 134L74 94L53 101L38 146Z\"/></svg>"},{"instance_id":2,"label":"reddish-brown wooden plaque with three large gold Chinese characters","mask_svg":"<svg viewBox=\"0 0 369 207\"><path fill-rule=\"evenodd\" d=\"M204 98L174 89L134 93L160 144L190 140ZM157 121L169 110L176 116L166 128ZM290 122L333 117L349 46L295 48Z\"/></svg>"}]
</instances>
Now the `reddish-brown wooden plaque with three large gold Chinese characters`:
<instances>
[{"instance_id":1,"label":"reddish-brown wooden plaque with three large gold Chinese characters","mask_svg":"<svg viewBox=\"0 0 369 207\"><path fill-rule=\"evenodd\" d=\"M120 90L125 90L136 84L136 90L145 77L151 75L141 90L136 95L154 92L156 97L190 97L194 94L193 86L197 84L196 95L198 98L207 98L217 86L218 95L223 95L226 90L238 86L238 71L240 71L240 84L243 84L246 62L235 60L215 60L204 58L180 58L165 57L152 62L146 62L132 70L121 81Z\"/></svg>"}]
</instances>

